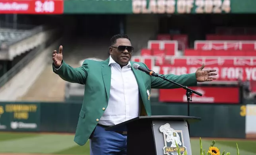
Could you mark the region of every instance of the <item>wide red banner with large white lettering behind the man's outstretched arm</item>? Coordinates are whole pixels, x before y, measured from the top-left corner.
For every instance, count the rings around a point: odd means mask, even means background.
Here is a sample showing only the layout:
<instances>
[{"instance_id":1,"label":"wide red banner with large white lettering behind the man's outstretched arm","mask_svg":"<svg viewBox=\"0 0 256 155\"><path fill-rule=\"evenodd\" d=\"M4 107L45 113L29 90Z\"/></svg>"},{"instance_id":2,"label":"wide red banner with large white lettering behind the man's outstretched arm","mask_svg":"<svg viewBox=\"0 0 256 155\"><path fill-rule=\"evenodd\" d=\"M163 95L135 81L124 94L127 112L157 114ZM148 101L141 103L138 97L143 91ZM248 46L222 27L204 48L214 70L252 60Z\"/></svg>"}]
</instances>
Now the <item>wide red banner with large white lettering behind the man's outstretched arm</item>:
<instances>
[{"instance_id":1,"label":"wide red banner with large white lettering behind the man's outstretched arm","mask_svg":"<svg viewBox=\"0 0 256 155\"><path fill-rule=\"evenodd\" d=\"M150 70L159 74L194 73L204 63L204 70L215 69L217 81L256 80L256 57L133 57L136 62L144 62Z\"/></svg>"}]
</instances>

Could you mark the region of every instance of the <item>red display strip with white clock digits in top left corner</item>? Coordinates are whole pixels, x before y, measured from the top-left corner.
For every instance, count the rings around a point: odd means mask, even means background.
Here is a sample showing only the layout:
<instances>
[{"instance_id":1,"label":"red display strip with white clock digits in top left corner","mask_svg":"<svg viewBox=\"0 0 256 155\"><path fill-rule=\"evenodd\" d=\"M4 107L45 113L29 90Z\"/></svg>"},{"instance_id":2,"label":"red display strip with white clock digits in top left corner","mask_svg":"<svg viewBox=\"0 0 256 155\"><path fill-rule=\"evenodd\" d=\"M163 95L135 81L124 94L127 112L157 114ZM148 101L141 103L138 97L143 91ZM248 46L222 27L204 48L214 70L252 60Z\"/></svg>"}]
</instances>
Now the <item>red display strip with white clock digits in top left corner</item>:
<instances>
[{"instance_id":1,"label":"red display strip with white clock digits in top left corner","mask_svg":"<svg viewBox=\"0 0 256 155\"><path fill-rule=\"evenodd\" d=\"M0 0L0 13L62 14L63 0Z\"/></svg>"}]
</instances>

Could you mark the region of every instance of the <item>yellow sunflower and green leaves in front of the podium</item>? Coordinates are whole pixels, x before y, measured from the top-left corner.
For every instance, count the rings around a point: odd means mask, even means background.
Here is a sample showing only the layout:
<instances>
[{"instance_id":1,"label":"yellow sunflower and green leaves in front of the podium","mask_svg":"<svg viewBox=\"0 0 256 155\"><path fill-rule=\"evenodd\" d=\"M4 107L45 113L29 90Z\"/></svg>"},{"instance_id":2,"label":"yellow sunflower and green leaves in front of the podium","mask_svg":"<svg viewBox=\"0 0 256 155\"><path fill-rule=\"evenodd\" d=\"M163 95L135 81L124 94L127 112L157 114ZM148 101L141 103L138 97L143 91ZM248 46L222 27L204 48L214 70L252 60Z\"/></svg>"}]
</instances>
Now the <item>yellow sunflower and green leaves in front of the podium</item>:
<instances>
[{"instance_id":1,"label":"yellow sunflower and green leaves in front of the podium","mask_svg":"<svg viewBox=\"0 0 256 155\"><path fill-rule=\"evenodd\" d=\"M223 151L222 153L219 151L218 147L215 147L215 140L212 141L211 146L209 147L209 150L206 152L205 150L203 150L202 147L202 139L200 137L200 155L230 155L229 152L225 152ZM180 147L178 146L178 144L176 143L176 147L178 148L178 155L180 154ZM187 155L187 151L184 152L183 155ZM237 145L237 155L239 155L239 148Z\"/></svg>"}]
</instances>

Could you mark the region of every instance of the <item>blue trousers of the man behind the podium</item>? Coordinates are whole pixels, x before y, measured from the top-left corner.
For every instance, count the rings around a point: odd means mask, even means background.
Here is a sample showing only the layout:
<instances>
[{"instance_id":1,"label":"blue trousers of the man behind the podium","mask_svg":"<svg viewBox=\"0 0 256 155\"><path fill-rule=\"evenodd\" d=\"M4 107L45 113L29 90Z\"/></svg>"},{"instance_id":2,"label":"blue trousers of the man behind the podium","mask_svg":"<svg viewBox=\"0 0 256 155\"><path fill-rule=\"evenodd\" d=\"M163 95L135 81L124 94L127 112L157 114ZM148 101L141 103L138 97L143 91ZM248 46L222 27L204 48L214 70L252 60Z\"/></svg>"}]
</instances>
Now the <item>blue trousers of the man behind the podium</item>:
<instances>
[{"instance_id":1,"label":"blue trousers of the man behind the podium","mask_svg":"<svg viewBox=\"0 0 256 155\"><path fill-rule=\"evenodd\" d=\"M90 139L90 155L126 155L127 136L98 126Z\"/></svg>"}]
</instances>

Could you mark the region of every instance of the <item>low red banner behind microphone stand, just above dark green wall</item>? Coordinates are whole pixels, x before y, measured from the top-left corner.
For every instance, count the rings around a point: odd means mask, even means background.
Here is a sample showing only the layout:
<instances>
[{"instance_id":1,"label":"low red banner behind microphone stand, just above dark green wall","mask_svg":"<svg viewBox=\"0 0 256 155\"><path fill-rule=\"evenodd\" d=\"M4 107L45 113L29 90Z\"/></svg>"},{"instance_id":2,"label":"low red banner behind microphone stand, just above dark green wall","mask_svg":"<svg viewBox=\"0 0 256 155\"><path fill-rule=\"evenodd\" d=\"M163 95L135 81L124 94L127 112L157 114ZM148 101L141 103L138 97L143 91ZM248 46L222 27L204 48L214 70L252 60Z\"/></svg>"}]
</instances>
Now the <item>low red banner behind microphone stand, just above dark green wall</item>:
<instances>
[{"instance_id":1,"label":"low red banner behind microphone stand, just above dark green wall","mask_svg":"<svg viewBox=\"0 0 256 155\"><path fill-rule=\"evenodd\" d=\"M192 103L239 103L238 87L190 87L202 96L193 94ZM159 101L161 102L187 102L186 90L178 89L160 89Z\"/></svg>"}]
</instances>

